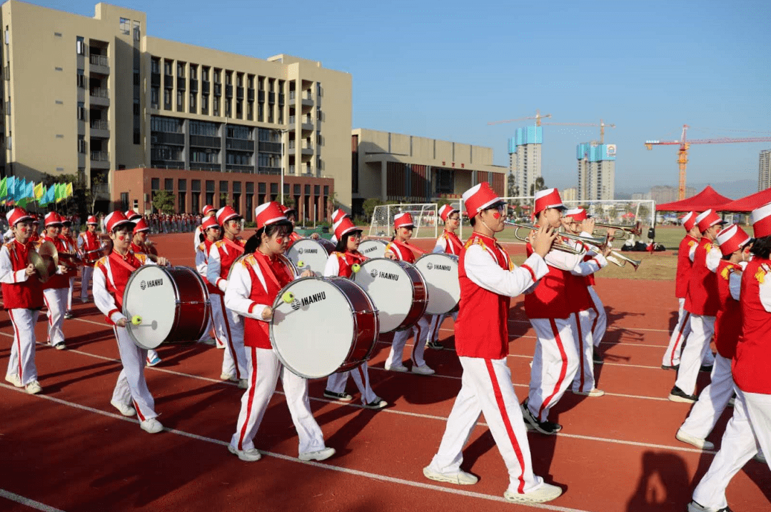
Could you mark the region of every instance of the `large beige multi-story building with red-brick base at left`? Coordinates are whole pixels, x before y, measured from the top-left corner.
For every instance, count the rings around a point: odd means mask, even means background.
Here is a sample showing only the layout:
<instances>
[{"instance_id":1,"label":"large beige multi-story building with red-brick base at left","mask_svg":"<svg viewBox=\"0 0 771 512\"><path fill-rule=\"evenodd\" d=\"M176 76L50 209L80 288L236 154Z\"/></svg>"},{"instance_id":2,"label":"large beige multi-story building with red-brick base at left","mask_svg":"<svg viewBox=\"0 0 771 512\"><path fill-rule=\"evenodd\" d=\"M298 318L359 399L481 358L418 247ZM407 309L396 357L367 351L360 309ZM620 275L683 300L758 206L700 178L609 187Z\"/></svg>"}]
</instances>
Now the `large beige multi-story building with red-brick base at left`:
<instances>
[{"instance_id":1,"label":"large beige multi-story building with red-brick base at left","mask_svg":"<svg viewBox=\"0 0 771 512\"><path fill-rule=\"evenodd\" d=\"M150 208L154 190L126 197L116 187L123 169L145 169L145 181L168 174L178 197L187 171L197 172L191 185L214 183L201 192L215 198L234 196L243 182L235 206L248 210L247 187L280 188L282 176L283 190L261 197L283 193L318 209L336 194L350 204L348 73L150 37L143 12L104 3L89 18L9 0L0 16L5 174L75 174L99 194L102 211L126 199ZM180 172L171 178L172 170ZM180 211L196 209L185 201Z\"/></svg>"}]
</instances>

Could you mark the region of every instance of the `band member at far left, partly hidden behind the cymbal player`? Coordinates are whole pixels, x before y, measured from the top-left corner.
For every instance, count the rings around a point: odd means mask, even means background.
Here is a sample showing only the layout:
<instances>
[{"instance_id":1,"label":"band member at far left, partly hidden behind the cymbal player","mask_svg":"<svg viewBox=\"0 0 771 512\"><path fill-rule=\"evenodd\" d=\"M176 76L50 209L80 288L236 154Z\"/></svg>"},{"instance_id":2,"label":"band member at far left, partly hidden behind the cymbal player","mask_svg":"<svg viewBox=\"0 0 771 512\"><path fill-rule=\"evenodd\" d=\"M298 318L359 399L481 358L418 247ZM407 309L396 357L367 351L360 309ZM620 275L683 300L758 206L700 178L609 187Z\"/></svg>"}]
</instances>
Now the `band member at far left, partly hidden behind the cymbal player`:
<instances>
[{"instance_id":1,"label":"band member at far left, partly hidden behind the cymbal player","mask_svg":"<svg viewBox=\"0 0 771 512\"><path fill-rule=\"evenodd\" d=\"M39 244L50 242L56 247L56 251L67 252L68 247L65 242L59 238L59 231L62 229L62 217L56 211L50 211L45 215L45 235L40 238ZM61 262L56 269L56 274L52 275L43 285L43 301L48 308L48 342L57 350L66 349L64 343L64 314L67 312L67 291L69 291L69 277Z\"/></svg>"}]
</instances>

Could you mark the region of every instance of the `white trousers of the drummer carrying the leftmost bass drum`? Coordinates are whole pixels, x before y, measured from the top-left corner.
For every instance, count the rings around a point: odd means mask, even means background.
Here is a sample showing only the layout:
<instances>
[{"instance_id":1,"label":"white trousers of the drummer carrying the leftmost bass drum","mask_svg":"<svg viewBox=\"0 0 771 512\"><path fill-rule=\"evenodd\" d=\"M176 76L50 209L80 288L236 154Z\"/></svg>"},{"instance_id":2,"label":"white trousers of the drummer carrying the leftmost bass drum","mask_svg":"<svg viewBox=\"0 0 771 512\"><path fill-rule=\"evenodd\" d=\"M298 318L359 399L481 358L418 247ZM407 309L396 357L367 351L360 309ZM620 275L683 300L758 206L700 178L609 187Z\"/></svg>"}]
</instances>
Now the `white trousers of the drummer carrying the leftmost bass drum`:
<instances>
[{"instance_id":1,"label":"white trousers of the drummer carrying the leftmost bass drum","mask_svg":"<svg viewBox=\"0 0 771 512\"><path fill-rule=\"evenodd\" d=\"M113 401L124 405L133 403L136 416L140 421L155 418L158 416L155 412L155 400L150 394L150 389L147 389L147 381L144 378L147 351L140 349L131 341L125 327L114 327L113 331L118 341L120 362L123 365L113 390Z\"/></svg>"}]
</instances>

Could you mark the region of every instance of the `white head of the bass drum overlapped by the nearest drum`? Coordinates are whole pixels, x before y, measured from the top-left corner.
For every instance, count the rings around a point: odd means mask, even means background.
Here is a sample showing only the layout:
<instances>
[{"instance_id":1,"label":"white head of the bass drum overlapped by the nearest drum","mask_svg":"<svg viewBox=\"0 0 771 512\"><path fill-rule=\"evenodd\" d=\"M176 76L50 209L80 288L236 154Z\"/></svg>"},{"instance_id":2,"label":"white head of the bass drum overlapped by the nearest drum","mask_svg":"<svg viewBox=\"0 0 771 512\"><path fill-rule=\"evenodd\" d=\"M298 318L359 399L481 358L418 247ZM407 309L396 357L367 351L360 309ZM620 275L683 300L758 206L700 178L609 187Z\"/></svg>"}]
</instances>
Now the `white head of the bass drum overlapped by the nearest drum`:
<instances>
[{"instance_id":1,"label":"white head of the bass drum overlapped by the nearest drum","mask_svg":"<svg viewBox=\"0 0 771 512\"><path fill-rule=\"evenodd\" d=\"M412 308L414 291L412 279L399 262L385 258L367 260L353 280L378 308L380 332L391 332L402 325Z\"/></svg>"}]
</instances>

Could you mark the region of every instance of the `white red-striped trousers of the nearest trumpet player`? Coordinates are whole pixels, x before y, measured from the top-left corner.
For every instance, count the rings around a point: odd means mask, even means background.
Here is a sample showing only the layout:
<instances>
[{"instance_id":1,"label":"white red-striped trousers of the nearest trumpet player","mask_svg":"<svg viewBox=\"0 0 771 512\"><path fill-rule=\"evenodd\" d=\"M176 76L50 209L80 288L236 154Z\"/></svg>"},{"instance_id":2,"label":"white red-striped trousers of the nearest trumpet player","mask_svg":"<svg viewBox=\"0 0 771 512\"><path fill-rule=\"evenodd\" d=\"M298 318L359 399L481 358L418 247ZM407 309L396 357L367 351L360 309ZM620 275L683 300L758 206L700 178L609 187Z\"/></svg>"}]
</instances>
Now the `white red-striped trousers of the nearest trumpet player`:
<instances>
[{"instance_id":1,"label":"white red-striped trousers of the nearest trumpet player","mask_svg":"<svg viewBox=\"0 0 771 512\"><path fill-rule=\"evenodd\" d=\"M463 377L453 410L439 443L439 451L429 467L436 473L458 473L463 463L463 446L484 413L503 462L509 471L509 490L527 493L543 485L544 480L533 474L527 429L522 409L511 383L507 358L480 359L461 356Z\"/></svg>"}]
</instances>

